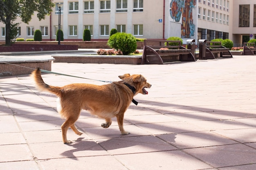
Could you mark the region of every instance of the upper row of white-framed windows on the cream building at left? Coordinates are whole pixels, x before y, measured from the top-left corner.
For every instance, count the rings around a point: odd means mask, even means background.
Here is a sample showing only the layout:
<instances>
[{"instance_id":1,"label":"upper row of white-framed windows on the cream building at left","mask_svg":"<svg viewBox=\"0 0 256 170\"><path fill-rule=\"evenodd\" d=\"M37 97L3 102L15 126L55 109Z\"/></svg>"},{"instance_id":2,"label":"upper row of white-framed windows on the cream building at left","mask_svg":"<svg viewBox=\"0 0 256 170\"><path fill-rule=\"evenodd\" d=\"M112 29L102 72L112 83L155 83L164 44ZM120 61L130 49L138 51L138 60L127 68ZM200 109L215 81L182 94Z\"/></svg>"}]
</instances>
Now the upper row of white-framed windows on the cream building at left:
<instances>
[{"instance_id":1,"label":"upper row of white-framed windows on the cream building at left","mask_svg":"<svg viewBox=\"0 0 256 170\"><path fill-rule=\"evenodd\" d=\"M128 0L116 0L116 12L127 12ZM56 3L55 14L58 14L58 4L61 4L61 14L63 14L63 2ZM79 13L79 2L68 3L68 13ZM133 0L133 12L143 11L143 0ZM100 0L100 13L110 13L110 0ZM83 13L94 13L94 1L83 1Z\"/></svg>"}]
</instances>

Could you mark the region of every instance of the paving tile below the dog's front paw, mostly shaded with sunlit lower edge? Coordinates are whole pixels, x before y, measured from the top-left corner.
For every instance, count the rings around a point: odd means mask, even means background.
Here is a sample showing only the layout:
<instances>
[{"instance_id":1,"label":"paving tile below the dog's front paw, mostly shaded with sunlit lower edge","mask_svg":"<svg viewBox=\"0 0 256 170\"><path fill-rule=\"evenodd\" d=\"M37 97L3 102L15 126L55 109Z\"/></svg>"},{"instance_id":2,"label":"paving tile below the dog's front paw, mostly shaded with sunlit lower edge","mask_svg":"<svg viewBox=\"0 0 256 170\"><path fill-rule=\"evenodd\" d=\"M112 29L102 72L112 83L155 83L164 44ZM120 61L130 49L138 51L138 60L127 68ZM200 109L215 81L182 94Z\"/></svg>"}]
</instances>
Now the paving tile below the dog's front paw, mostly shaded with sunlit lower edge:
<instances>
[{"instance_id":1,"label":"paving tile below the dog's front paw, mostly shaded with sunlit lower edge","mask_svg":"<svg viewBox=\"0 0 256 170\"><path fill-rule=\"evenodd\" d=\"M98 139L97 143L111 155L177 150L177 148L152 135Z\"/></svg>"}]
</instances>

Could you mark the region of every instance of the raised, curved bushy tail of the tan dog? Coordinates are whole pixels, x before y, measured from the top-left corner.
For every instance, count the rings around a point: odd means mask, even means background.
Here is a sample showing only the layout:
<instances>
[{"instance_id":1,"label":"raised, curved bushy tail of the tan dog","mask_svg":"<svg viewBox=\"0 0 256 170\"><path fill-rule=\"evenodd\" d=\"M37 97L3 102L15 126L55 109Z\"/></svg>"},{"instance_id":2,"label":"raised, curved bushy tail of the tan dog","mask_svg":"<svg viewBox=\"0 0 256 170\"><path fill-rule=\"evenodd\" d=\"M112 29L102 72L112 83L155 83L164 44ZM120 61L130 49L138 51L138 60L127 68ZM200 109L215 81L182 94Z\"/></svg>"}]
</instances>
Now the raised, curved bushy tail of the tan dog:
<instances>
[{"instance_id":1,"label":"raised, curved bushy tail of the tan dog","mask_svg":"<svg viewBox=\"0 0 256 170\"><path fill-rule=\"evenodd\" d=\"M48 84L46 84L41 76L41 71L40 69L36 69L31 73L31 77L34 78L34 81L36 83L36 88L39 91L48 91L50 93L55 94L56 96L60 96L61 95L61 87L58 86L50 86Z\"/></svg>"}]
</instances>

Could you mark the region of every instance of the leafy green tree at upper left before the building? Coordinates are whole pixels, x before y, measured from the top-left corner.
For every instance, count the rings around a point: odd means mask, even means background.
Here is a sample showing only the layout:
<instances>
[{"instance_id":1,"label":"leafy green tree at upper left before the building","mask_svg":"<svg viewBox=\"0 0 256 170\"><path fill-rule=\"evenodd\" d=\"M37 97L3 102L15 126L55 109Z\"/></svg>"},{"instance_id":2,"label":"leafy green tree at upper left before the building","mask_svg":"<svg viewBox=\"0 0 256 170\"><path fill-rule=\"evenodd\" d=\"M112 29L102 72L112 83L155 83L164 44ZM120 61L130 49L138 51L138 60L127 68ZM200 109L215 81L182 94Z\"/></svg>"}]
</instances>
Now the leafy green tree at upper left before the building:
<instances>
[{"instance_id":1,"label":"leafy green tree at upper left before the building","mask_svg":"<svg viewBox=\"0 0 256 170\"><path fill-rule=\"evenodd\" d=\"M17 17L28 24L34 12L37 12L39 20L49 15L55 4L52 0L0 0L0 21L5 24L5 45L11 45L11 40L17 35L15 23Z\"/></svg>"}]
</instances>

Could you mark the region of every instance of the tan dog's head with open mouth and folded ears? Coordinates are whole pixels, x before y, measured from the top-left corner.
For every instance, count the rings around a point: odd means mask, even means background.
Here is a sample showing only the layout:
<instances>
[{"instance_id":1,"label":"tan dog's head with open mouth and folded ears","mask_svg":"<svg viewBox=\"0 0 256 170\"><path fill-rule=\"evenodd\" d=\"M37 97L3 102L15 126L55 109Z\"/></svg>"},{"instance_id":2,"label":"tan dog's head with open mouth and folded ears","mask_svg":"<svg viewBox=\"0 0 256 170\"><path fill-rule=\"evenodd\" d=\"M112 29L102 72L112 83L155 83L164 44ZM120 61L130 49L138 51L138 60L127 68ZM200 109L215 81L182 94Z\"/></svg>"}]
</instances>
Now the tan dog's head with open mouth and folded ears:
<instances>
[{"instance_id":1,"label":"tan dog's head with open mouth and folded ears","mask_svg":"<svg viewBox=\"0 0 256 170\"><path fill-rule=\"evenodd\" d=\"M148 91L145 88L150 88L151 84L147 83L146 78L143 75L130 75L124 74L118 76L120 79L124 80L125 83L129 84L130 86L134 86L136 89L135 95L141 93L143 95L147 95Z\"/></svg>"}]
</instances>

